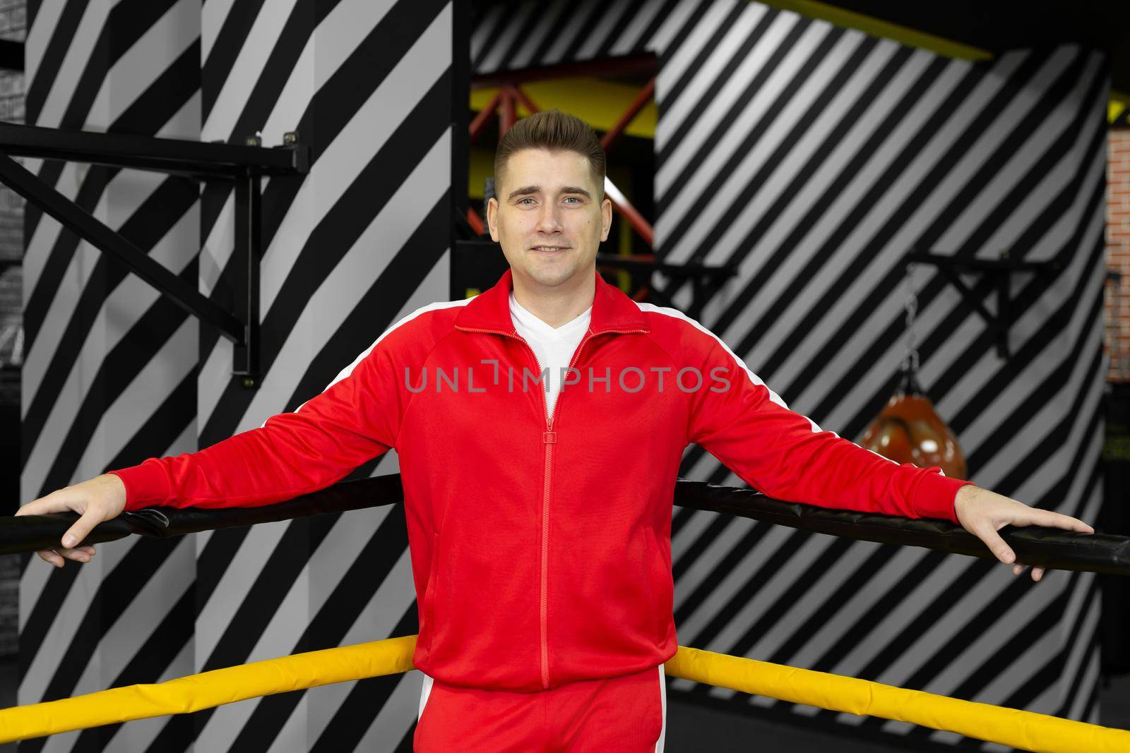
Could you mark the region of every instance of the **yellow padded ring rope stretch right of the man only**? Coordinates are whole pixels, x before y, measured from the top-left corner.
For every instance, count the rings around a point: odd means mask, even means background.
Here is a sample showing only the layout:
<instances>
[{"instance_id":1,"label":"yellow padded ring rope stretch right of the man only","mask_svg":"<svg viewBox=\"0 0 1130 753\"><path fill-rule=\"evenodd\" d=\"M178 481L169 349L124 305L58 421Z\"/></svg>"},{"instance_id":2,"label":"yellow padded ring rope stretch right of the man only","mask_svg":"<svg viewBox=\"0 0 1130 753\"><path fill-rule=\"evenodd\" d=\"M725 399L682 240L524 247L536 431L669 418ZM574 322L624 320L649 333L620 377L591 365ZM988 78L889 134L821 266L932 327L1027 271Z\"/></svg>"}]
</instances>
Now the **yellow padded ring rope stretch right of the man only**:
<instances>
[{"instance_id":1,"label":"yellow padded ring rope stretch right of the man only","mask_svg":"<svg viewBox=\"0 0 1130 753\"><path fill-rule=\"evenodd\" d=\"M668 675L818 706L831 711L897 719L1037 753L1130 751L1130 732L1046 713L963 701L920 690L758 662L680 646Z\"/></svg>"}]
</instances>

